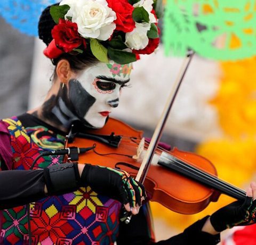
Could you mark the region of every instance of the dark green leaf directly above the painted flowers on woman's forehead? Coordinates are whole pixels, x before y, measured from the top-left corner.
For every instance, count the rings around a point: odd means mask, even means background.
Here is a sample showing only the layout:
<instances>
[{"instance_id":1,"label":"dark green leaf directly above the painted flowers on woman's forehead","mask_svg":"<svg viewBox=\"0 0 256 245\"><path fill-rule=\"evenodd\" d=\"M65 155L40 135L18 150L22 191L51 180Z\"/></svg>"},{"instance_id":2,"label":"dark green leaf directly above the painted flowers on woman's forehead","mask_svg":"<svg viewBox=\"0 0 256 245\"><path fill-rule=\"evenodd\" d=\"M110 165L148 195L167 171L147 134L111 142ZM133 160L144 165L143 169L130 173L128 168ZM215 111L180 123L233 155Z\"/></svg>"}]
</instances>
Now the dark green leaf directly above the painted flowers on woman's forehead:
<instances>
[{"instance_id":1,"label":"dark green leaf directly above the painted flowers on woman's forehead","mask_svg":"<svg viewBox=\"0 0 256 245\"><path fill-rule=\"evenodd\" d=\"M108 48L108 56L111 60L115 61L118 64L128 64L136 61L135 54L122 50L115 50L111 47Z\"/></svg>"}]
</instances>

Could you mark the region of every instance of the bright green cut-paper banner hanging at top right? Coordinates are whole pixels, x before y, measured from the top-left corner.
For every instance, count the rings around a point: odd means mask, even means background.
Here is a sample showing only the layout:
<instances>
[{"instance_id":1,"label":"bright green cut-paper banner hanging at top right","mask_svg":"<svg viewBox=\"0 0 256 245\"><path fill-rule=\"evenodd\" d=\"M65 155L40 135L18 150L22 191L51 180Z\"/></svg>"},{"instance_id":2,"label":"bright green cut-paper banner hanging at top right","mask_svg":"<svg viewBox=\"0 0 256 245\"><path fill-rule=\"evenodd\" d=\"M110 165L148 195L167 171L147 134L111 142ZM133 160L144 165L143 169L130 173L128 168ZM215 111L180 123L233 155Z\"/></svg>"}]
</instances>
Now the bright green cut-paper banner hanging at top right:
<instances>
[{"instance_id":1,"label":"bright green cut-paper banner hanging at top right","mask_svg":"<svg viewBox=\"0 0 256 245\"><path fill-rule=\"evenodd\" d=\"M255 0L167 0L163 42L166 54L188 49L204 58L238 60L256 54Z\"/></svg>"}]
</instances>

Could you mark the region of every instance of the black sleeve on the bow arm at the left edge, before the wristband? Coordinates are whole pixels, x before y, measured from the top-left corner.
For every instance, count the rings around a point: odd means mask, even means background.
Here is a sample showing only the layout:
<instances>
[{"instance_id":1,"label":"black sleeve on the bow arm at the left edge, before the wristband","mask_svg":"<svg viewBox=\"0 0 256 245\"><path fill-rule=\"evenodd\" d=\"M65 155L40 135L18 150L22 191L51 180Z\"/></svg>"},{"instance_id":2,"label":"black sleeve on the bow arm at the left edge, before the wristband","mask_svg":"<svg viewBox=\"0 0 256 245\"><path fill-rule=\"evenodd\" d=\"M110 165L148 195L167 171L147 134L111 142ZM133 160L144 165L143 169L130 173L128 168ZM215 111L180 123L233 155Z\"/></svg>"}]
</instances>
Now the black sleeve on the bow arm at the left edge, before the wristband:
<instances>
[{"instance_id":1,"label":"black sleeve on the bow arm at the left edge, before the wristband","mask_svg":"<svg viewBox=\"0 0 256 245\"><path fill-rule=\"evenodd\" d=\"M44 198L44 171L0 171L0 210L25 205Z\"/></svg>"}]
</instances>

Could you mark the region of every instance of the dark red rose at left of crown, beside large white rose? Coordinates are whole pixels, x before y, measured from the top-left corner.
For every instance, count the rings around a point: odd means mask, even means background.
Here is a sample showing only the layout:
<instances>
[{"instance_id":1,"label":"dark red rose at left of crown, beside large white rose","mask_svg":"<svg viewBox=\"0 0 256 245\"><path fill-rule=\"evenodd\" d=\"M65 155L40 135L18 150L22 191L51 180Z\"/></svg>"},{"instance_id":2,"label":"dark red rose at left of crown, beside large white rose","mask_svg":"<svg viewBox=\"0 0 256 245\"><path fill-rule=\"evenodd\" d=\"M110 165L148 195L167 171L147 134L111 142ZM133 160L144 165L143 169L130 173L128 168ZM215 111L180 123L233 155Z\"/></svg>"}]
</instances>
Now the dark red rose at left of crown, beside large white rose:
<instances>
[{"instance_id":1,"label":"dark red rose at left of crown, beside large white rose","mask_svg":"<svg viewBox=\"0 0 256 245\"><path fill-rule=\"evenodd\" d=\"M69 20L60 19L58 25L52 29L52 37L55 39L55 44L66 53L72 51L74 48L79 47L83 39L78 34L77 24Z\"/></svg>"}]
</instances>

